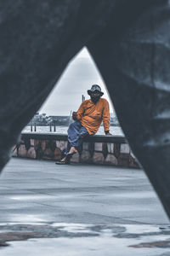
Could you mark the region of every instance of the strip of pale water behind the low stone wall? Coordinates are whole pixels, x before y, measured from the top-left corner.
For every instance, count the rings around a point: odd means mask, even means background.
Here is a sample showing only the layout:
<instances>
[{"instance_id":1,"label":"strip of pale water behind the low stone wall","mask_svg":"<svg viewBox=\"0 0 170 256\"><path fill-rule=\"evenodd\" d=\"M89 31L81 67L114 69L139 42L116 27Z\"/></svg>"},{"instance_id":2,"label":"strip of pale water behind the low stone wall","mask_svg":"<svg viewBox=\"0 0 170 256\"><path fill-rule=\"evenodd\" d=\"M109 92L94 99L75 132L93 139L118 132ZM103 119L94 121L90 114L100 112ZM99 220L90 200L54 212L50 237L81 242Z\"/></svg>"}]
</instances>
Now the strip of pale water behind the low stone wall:
<instances>
[{"instance_id":1,"label":"strip of pale water behind the low stone wall","mask_svg":"<svg viewBox=\"0 0 170 256\"><path fill-rule=\"evenodd\" d=\"M34 127L32 127L32 128L34 131ZM55 132L66 134L67 130L68 130L68 126L59 125L59 126L56 126ZM26 126L25 129L23 130L23 132L31 132L31 126ZM50 132L49 126L37 126L37 132L48 133L48 132ZM52 132L54 132L54 126L52 126ZM123 136L124 137L124 134L123 134L120 126L111 126L110 132L114 136ZM97 135L105 135L104 127L100 126L99 131L96 134Z\"/></svg>"}]
</instances>

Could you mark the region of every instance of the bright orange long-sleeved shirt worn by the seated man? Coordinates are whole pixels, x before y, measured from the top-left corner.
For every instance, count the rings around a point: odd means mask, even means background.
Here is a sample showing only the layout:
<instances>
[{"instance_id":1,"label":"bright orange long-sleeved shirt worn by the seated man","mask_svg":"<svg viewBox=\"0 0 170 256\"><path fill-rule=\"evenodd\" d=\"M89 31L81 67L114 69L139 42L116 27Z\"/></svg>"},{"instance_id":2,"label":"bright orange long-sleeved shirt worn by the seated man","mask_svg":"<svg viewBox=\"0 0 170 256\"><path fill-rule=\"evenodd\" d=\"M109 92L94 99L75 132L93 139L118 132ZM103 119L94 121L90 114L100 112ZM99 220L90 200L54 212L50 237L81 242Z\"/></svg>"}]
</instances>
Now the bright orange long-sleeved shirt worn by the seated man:
<instances>
[{"instance_id":1,"label":"bright orange long-sleeved shirt worn by the seated man","mask_svg":"<svg viewBox=\"0 0 170 256\"><path fill-rule=\"evenodd\" d=\"M109 131L109 102L104 98L99 98L99 101L96 104L94 104L91 99L82 102L77 111L77 120L81 121L82 126L88 130L89 134L96 133L102 121L105 131Z\"/></svg>"}]
</instances>

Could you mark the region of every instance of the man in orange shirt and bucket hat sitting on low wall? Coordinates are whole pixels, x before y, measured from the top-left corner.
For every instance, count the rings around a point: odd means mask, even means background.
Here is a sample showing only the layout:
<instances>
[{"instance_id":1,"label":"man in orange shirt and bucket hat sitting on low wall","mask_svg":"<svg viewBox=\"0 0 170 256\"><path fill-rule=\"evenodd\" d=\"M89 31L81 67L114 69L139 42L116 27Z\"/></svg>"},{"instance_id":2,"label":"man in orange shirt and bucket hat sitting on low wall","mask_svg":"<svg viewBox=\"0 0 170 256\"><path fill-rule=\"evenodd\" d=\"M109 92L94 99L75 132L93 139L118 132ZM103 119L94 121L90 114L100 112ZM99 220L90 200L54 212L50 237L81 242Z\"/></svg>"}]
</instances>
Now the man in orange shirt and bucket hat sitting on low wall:
<instances>
[{"instance_id":1,"label":"man in orange shirt and bucket hat sitting on low wall","mask_svg":"<svg viewBox=\"0 0 170 256\"><path fill-rule=\"evenodd\" d=\"M65 157L56 162L58 165L70 164L71 156L76 154L82 145L82 138L94 135L103 121L105 135L111 135L109 102L101 98L104 93L98 84L92 85L88 90L91 99L82 102L77 112L72 113L75 122L71 123L68 129L68 143L65 150Z\"/></svg>"}]
</instances>

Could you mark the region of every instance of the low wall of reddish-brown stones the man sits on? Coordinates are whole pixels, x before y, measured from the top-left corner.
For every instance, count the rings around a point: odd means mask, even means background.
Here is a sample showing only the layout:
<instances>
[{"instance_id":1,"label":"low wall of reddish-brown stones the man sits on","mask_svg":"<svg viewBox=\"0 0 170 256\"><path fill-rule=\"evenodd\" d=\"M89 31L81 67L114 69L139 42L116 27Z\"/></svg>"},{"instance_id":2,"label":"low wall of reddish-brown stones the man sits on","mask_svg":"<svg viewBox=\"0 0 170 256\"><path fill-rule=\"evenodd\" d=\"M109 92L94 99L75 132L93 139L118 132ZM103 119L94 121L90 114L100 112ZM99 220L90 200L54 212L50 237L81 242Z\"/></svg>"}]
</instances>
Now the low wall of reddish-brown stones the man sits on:
<instances>
[{"instance_id":1,"label":"low wall of reddish-brown stones the man sits on","mask_svg":"<svg viewBox=\"0 0 170 256\"><path fill-rule=\"evenodd\" d=\"M13 148L14 157L60 160L65 152L67 136L56 133L23 133L19 145ZM139 167L124 137L87 137L79 154L71 162L111 166Z\"/></svg>"}]
</instances>

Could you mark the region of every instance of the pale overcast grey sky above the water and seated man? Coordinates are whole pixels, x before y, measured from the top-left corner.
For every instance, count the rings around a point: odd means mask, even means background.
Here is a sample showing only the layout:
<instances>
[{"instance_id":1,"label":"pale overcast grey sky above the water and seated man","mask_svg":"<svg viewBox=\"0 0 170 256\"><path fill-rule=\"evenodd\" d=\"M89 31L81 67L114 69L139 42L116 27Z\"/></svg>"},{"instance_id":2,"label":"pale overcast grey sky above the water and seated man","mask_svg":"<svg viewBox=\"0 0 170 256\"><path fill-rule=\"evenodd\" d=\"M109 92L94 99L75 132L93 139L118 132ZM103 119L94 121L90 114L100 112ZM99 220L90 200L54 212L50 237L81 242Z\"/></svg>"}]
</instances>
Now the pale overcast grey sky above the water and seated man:
<instances>
[{"instance_id":1,"label":"pale overcast grey sky above the water and seated man","mask_svg":"<svg viewBox=\"0 0 170 256\"><path fill-rule=\"evenodd\" d=\"M65 68L54 90L43 103L39 113L47 115L70 115L71 111L77 111L82 103L82 95L88 100L87 90L92 84L99 84L104 92L104 98L110 103L110 113L113 107L109 94L105 88L105 82L91 57L87 48L83 48Z\"/></svg>"}]
</instances>

